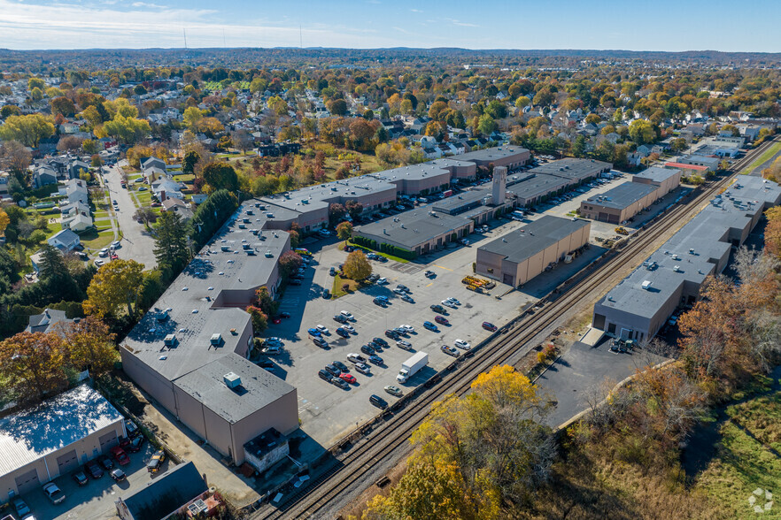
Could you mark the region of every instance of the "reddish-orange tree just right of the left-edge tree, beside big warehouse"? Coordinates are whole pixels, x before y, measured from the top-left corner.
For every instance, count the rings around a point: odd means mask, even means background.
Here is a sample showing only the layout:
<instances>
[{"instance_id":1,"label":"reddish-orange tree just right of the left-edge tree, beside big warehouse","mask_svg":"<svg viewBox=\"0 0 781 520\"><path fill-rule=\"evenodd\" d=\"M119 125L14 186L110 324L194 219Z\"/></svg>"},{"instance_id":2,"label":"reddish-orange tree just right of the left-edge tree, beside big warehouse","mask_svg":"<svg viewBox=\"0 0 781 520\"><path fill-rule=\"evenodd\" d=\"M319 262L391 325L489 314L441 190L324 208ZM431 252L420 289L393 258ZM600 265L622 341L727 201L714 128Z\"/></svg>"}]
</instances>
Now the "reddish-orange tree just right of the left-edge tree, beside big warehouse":
<instances>
[{"instance_id":1,"label":"reddish-orange tree just right of the left-edge tree, beside big warehouse","mask_svg":"<svg viewBox=\"0 0 781 520\"><path fill-rule=\"evenodd\" d=\"M108 325L94 316L61 322L59 333L65 338L66 356L77 370L89 370L93 377L112 371L120 356L114 346L115 335Z\"/></svg>"}]
</instances>

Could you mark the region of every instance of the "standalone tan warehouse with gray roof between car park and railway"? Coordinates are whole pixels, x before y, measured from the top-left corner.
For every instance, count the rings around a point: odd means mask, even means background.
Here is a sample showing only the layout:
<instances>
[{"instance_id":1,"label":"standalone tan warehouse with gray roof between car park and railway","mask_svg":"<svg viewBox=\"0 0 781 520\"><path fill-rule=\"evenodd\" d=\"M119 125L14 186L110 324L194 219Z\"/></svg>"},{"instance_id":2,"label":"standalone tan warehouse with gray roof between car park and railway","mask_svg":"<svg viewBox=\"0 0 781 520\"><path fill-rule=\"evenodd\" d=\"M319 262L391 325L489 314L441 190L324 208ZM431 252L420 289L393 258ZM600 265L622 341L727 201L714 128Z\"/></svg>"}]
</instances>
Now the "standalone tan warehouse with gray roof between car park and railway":
<instances>
[{"instance_id":1,"label":"standalone tan warehouse with gray roof between car park and railway","mask_svg":"<svg viewBox=\"0 0 781 520\"><path fill-rule=\"evenodd\" d=\"M518 287L589 241L591 223L545 215L477 249L476 273Z\"/></svg>"}]
</instances>

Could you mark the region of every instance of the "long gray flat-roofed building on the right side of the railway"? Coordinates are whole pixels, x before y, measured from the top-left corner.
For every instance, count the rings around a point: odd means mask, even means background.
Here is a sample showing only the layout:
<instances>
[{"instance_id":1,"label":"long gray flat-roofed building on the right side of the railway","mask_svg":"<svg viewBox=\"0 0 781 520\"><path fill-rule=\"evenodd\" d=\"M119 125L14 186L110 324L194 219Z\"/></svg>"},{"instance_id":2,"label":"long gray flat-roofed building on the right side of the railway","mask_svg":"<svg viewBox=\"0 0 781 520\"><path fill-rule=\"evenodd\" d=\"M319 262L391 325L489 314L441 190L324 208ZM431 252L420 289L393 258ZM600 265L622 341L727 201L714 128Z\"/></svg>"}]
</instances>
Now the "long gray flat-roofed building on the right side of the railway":
<instances>
[{"instance_id":1,"label":"long gray flat-roofed building on the right side of the railway","mask_svg":"<svg viewBox=\"0 0 781 520\"><path fill-rule=\"evenodd\" d=\"M594 305L592 326L617 338L651 340L678 306L697 301L703 281L723 271L731 248L779 202L775 182L740 176Z\"/></svg>"}]
</instances>

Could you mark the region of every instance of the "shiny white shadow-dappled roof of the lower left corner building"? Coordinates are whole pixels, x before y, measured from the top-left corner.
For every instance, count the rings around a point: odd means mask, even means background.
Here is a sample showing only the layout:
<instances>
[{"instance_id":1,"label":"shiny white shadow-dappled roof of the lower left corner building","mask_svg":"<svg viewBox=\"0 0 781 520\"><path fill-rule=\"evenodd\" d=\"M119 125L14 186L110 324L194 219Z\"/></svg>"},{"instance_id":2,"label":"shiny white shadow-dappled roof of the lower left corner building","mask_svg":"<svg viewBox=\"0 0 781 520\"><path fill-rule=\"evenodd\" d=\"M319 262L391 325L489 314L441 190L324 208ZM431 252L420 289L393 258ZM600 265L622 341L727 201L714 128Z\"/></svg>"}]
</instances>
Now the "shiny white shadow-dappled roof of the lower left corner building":
<instances>
[{"instance_id":1,"label":"shiny white shadow-dappled roof of the lower left corner building","mask_svg":"<svg viewBox=\"0 0 781 520\"><path fill-rule=\"evenodd\" d=\"M0 475L122 420L120 412L87 385L0 419Z\"/></svg>"}]
</instances>

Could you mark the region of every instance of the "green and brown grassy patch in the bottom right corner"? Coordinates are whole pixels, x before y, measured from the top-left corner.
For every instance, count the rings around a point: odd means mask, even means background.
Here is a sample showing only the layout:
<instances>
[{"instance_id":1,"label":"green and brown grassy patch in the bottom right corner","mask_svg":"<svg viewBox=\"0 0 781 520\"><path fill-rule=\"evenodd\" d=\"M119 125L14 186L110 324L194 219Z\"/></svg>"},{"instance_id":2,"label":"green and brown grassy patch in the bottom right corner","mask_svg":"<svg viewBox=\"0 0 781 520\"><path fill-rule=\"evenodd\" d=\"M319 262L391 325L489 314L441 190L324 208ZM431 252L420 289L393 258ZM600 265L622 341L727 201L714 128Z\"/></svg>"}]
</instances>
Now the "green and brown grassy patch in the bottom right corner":
<instances>
[{"instance_id":1,"label":"green and brown grassy patch in the bottom right corner","mask_svg":"<svg viewBox=\"0 0 781 520\"><path fill-rule=\"evenodd\" d=\"M778 501L762 515L764 490L781 493L781 392L764 395L727 409L730 420L719 433L718 453L700 474L696 488L719 503L731 518L781 517ZM762 489L762 494L754 490ZM754 503L749 500L754 496Z\"/></svg>"}]
</instances>

